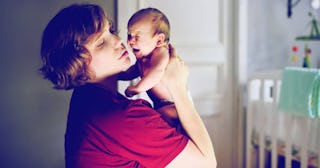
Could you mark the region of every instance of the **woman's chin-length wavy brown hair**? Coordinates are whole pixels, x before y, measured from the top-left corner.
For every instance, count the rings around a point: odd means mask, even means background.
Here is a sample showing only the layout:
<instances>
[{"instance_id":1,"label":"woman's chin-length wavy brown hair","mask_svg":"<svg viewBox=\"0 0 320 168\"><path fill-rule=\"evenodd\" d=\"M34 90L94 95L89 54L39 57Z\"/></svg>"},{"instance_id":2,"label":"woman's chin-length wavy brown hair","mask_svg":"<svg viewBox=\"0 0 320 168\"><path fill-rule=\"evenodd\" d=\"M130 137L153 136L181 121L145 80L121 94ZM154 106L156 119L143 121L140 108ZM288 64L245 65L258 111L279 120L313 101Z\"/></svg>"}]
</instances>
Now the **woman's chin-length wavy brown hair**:
<instances>
[{"instance_id":1,"label":"woman's chin-length wavy brown hair","mask_svg":"<svg viewBox=\"0 0 320 168\"><path fill-rule=\"evenodd\" d=\"M103 9L93 4L73 4L50 20L42 35L39 70L54 88L72 89L92 78L91 56L84 44L107 23L111 24Z\"/></svg>"}]
</instances>

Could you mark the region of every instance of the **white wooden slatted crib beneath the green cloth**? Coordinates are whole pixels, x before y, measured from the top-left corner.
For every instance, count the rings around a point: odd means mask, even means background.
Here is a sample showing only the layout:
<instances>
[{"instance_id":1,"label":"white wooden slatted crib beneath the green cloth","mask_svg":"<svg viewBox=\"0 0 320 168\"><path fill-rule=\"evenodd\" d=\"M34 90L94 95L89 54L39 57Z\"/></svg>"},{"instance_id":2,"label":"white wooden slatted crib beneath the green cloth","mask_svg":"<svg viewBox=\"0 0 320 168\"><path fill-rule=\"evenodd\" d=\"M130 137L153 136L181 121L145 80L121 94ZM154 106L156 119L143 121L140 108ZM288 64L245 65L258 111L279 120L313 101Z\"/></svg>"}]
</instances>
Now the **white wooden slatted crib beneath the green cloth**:
<instances>
[{"instance_id":1,"label":"white wooden slatted crib beneath the green cloth","mask_svg":"<svg viewBox=\"0 0 320 168\"><path fill-rule=\"evenodd\" d=\"M319 118L279 110L282 71L265 71L248 80L246 168L320 168Z\"/></svg>"}]
</instances>

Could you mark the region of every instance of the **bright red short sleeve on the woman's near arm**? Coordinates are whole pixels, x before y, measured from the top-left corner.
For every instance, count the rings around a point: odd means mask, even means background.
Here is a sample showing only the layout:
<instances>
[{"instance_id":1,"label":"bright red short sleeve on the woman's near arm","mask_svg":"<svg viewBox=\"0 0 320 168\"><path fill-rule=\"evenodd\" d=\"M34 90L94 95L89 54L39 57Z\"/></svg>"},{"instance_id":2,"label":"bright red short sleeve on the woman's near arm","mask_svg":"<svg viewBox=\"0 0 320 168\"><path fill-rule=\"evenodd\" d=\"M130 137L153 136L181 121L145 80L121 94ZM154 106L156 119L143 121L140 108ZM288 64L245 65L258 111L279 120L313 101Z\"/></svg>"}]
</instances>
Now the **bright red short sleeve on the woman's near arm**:
<instances>
[{"instance_id":1,"label":"bright red short sleeve on the woman's near arm","mask_svg":"<svg viewBox=\"0 0 320 168\"><path fill-rule=\"evenodd\" d=\"M113 137L117 142L115 150L145 167L165 167L188 142L144 100L129 105L121 124Z\"/></svg>"}]
</instances>

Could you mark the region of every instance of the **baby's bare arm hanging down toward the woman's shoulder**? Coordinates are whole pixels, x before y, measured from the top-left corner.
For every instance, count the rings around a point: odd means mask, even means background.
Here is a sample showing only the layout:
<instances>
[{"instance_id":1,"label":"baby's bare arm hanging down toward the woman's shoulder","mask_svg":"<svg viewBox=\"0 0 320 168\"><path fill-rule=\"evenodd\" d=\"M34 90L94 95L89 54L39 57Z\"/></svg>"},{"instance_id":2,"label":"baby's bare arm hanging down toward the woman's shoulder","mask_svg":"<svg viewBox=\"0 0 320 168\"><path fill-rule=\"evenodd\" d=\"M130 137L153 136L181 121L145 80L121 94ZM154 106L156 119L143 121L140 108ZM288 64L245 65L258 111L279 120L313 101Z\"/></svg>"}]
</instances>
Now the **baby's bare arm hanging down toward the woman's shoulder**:
<instances>
[{"instance_id":1,"label":"baby's bare arm hanging down toward the woman's shoulder","mask_svg":"<svg viewBox=\"0 0 320 168\"><path fill-rule=\"evenodd\" d=\"M166 47L156 48L151 56L151 68L144 74L141 80L136 84L129 86L126 90L126 95L134 96L140 92L147 91L158 84L164 74L164 70L169 61L169 52Z\"/></svg>"}]
</instances>

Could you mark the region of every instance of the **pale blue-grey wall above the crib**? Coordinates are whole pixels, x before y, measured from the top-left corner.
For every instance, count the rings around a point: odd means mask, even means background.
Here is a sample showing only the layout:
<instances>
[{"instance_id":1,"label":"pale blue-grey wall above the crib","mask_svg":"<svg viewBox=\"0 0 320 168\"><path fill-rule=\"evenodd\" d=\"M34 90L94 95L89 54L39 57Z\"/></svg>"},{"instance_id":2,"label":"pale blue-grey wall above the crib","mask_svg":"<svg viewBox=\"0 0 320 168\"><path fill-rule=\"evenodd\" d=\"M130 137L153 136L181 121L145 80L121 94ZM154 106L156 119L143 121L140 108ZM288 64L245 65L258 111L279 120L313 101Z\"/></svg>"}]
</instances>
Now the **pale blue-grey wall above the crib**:
<instances>
[{"instance_id":1,"label":"pale blue-grey wall above the crib","mask_svg":"<svg viewBox=\"0 0 320 168\"><path fill-rule=\"evenodd\" d=\"M312 11L309 0L302 0L287 17L287 0L248 0L248 75L261 70L282 69L290 64L291 47L298 45L302 66L306 42L297 42L297 35L310 33ZM316 12L320 16L320 10ZM320 41L307 42L312 49L312 66L320 67Z\"/></svg>"}]
</instances>

